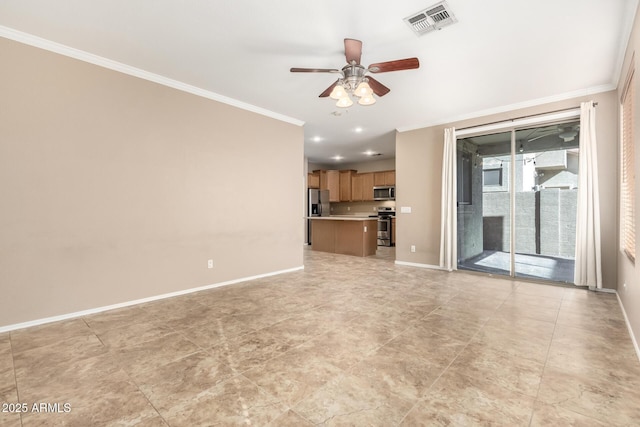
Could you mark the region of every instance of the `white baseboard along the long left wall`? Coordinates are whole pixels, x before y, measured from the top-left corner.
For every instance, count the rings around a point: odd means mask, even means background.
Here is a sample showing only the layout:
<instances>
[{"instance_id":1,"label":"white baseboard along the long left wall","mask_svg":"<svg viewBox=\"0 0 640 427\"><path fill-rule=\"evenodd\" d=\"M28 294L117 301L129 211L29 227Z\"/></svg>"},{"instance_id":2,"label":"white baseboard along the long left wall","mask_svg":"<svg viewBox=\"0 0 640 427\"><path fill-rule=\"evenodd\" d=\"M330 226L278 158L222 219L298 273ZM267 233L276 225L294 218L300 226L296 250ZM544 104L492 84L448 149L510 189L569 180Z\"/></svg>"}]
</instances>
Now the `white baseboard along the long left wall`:
<instances>
[{"instance_id":1,"label":"white baseboard along the long left wall","mask_svg":"<svg viewBox=\"0 0 640 427\"><path fill-rule=\"evenodd\" d=\"M16 329L29 328L31 326L44 325L47 323L59 322L61 320L75 319L77 317L88 316L96 313L102 313L103 311L115 310L117 308L124 308L132 305L143 304L146 302L177 297L180 295L191 294L193 292L206 291L207 289L219 288L222 286L233 285L241 282L248 282L251 280L262 279L270 276L277 276L279 274L292 273L294 271L299 271L299 270L304 270L304 265L300 267L289 268L286 270L279 270L279 271L273 271L270 273L258 274L256 276L242 277L240 279L233 279L233 280L227 280L225 282L212 283L210 285L200 286L198 288L185 289L182 291L170 292L162 295L155 295L148 298L141 298L133 301L126 301L118 304L112 304L112 305L106 305L103 307L91 308L88 310L76 311L74 313L61 314L59 316L45 317L42 319L30 320L28 322L15 323L13 325L7 325L7 326L0 326L0 333L15 331Z\"/></svg>"}]
</instances>

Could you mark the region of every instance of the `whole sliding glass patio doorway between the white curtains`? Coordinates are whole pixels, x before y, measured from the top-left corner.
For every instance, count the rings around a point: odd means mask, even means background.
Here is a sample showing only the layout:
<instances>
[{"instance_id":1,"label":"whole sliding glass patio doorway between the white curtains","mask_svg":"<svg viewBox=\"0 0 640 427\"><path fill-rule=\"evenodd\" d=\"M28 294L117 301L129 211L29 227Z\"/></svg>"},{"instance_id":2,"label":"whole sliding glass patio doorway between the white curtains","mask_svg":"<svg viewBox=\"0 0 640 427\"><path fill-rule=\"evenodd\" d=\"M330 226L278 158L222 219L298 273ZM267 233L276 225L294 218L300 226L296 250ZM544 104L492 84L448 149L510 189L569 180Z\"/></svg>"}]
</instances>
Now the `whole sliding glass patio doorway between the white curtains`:
<instances>
[{"instance_id":1,"label":"whole sliding glass patio doorway between the white curtains","mask_svg":"<svg viewBox=\"0 0 640 427\"><path fill-rule=\"evenodd\" d=\"M457 141L458 268L573 283L579 121Z\"/></svg>"}]
</instances>

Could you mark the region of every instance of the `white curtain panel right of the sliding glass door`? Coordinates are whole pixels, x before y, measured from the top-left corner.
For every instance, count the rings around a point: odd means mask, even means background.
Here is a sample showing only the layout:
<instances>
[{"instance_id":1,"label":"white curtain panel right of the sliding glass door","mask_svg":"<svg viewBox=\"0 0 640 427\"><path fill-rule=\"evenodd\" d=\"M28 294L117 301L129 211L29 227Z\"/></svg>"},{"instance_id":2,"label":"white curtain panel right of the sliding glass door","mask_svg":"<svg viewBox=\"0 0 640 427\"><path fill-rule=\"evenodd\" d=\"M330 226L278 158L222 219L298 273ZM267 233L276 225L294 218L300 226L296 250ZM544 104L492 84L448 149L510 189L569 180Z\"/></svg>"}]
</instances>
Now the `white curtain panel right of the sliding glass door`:
<instances>
[{"instance_id":1,"label":"white curtain panel right of the sliding glass door","mask_svg":"<svg viewBox=\"0 0 640 427\"><path fill-rule=\"evenodd\" d=\"M596 109L593 102L583 102L580 105L575 284L591 289L602 288L597 159Z\"/></svg>"}]
</instances>

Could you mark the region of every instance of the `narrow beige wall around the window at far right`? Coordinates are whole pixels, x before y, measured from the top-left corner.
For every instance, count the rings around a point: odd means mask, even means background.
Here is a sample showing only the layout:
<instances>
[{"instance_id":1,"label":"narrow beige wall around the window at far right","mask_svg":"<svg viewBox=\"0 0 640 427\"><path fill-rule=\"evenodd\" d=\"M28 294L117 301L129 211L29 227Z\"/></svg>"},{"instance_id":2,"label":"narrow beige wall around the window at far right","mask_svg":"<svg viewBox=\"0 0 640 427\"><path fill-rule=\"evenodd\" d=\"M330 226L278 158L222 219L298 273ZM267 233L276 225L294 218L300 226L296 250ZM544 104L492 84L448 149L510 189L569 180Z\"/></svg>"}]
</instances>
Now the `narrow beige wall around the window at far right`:
<instances>
[{"instance_id":1,"label":"narrow beige wall around the window at far right","mask_svg":"<svg viewBox=\"0 0 640 427\"><path fill-rule=\"evenodd\" d=\"M622 66L620 74L617 99L622 96L623 86L627 79L629 70L635 67L638 72L637 58L640 52L640 12L636 14L635 22L633 25L633 31L629 38L629 44L627 46L627 52ZM634 57L635 54L635 57ZM640 343L640 176L638 169L640 168L640 119L638 114L640 112L640 79L638 75L635 76L635 94L634 94L634 117L635 127L633 129L634 143L635 143L635 184L636 184L636 261L635 263L616 248L618 253L618 295L624 306L627 318L633 329L636 343ZM619 146L619 145L618 145ZM619 149L619 148L618 148ZM618 178L619 179L619 178ZM626 287L624 286L626 284ZM637 344L636 344L637 345ZM636 347L636 350L638 348Z\"/></svg>"}]
</instances>

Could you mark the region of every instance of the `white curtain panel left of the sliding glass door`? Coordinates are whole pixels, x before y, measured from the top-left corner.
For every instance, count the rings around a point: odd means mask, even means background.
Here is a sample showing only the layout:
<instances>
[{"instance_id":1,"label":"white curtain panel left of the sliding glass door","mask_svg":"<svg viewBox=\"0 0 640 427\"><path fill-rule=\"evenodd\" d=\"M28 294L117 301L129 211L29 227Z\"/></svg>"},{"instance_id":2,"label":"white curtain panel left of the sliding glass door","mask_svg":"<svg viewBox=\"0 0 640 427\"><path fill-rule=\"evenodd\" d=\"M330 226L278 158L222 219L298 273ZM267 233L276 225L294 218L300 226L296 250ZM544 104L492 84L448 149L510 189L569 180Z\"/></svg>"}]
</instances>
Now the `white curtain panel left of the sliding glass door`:
<instances>
[{"instance_id":1,"label":"white curtain panel left of the sliding glass door","mask_svg":"<svg viewBox=\"0 0 640 427\"><path fill-rule=\"evenodd\" d=\"M440 222L440 267L458 268L456 242L456 130L444 130L442 155L442 197Z\"/></svg>"}]
</instances>

